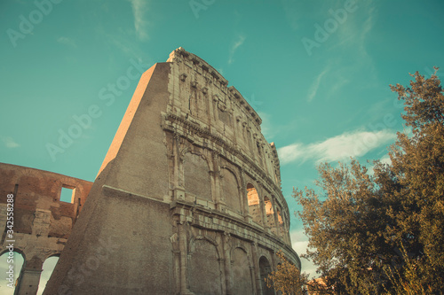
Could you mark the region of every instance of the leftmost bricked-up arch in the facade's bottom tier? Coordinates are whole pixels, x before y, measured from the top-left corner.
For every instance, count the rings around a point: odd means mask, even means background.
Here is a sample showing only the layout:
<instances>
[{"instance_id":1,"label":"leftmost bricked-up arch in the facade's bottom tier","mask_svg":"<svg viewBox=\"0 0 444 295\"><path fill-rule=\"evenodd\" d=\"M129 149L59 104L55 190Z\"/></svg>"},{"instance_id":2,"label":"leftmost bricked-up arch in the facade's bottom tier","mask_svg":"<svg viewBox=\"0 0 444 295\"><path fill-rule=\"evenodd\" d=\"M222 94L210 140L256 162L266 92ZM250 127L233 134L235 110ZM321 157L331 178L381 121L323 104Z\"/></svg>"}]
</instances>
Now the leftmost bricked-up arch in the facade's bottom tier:
<instances>
[{"instance_id":1,"label":"leftmost bricked-up arch in the facade's bottom tier","mask_svg":"<svg viewBox=\"0 0 444 295\"><path fill-rule=\"evenodd\" d=\"M218 245L208 237L195 237L189 249L189 290L195 295L221 295L223 279Z\"/></svg>"}]
</instances>

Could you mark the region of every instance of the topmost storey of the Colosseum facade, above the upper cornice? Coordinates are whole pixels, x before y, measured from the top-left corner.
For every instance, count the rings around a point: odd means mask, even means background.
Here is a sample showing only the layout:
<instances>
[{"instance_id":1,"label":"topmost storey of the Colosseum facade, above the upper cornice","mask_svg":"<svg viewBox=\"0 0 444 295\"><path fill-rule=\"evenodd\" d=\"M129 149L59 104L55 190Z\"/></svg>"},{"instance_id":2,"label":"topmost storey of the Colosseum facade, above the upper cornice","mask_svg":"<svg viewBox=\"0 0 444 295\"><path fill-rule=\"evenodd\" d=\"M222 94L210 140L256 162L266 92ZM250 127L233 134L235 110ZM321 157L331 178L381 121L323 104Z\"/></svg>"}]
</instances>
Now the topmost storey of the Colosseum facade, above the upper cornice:
<instances>
[{"instance_id":1,"label":"topmost storey of the Colosseum facade, above the upper cornice","mask_svg":"<svg viewBox=\"0 0 444 295\"><path fill-rule=\"evenodd\" d=\"M241 93L228 87L202 58L182 48L172 51L167 61L173 64L168 113L223 138L280 187L279 160L261 133L262 120Z\"/></svg>"}]
</instances>

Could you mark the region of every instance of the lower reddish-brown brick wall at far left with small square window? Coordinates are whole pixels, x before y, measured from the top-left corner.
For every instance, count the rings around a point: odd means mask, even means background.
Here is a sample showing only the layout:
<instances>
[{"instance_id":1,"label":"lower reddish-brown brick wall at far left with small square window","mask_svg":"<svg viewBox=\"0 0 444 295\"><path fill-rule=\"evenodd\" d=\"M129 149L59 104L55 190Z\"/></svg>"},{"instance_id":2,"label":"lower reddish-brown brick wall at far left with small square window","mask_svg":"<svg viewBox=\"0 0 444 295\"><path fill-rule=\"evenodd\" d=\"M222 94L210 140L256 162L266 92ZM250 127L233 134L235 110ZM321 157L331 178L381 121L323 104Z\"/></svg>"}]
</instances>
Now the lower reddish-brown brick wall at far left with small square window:
<instances>
[{"instance_id":1,"label":"lower reddish-brown brick wall at far left with small square window","mask_svg":"<svg viewBox=\"0 0 444 295\"><path fill-rule=\"evenodd\" d=\"M63 186L74 189L72 203L59 200ZM44 260L62 252L91 186L74 177L0 163L0 255L14 240L14 251L25 259L18 294L36 294ZM6 236L8 194L14 195L12 239Z\"/></svg>"}]
</instances>

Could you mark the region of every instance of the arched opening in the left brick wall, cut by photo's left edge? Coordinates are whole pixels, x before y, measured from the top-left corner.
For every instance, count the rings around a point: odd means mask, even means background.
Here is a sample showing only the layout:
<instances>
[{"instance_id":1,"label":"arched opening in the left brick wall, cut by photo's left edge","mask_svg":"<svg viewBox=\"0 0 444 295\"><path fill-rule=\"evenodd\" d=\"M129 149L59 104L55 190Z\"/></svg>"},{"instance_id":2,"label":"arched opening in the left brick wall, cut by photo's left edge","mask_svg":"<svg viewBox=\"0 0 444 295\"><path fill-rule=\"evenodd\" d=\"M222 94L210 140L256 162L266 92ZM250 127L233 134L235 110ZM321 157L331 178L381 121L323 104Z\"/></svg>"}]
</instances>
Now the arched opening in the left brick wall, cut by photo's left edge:
<instances>
[{"instance_id":1,"label":"arched opening in the left brick wall, cut by photo's left edge","mask_svg":"<svg viewBox=\"0 0 444 295\"><path fill-rule=\"evenodd\" d=\"M14 249L15 250L15 249ZM13 295L20 284L21 270L25 267L25 257L20 252L4 252L0 256L0 273L4 274L0 280L0 290L4 295Z\"/></svg>"}]
</instances>

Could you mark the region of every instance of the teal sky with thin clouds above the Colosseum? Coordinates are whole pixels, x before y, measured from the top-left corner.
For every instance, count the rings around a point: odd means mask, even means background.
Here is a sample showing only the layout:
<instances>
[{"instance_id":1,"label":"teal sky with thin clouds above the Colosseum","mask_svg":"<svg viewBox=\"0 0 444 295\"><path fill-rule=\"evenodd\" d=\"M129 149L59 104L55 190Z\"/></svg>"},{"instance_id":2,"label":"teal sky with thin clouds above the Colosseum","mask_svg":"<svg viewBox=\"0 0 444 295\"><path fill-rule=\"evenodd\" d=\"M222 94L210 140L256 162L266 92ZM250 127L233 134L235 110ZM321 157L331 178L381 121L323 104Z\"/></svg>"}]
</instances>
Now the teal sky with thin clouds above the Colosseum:
<instances>
[{"instance_id":1,"label":"teal sky with thin clouds above the Colosseum","mask_svg":"<svg viewBox=\"0 0 444 295\"><path fill-rule=\"evenodd\" d=\"M4 0L0 161L93 181L139 68L181 46L218 69L261 116L293 212L292 187L313 187L320 161L387 159L403 129L389 84L444 66L443 15L442 0ZM51 155L60 130L91 107L91 126ZM304 252L295 216L291 235Z\"/></svg>"}]
</instances>

